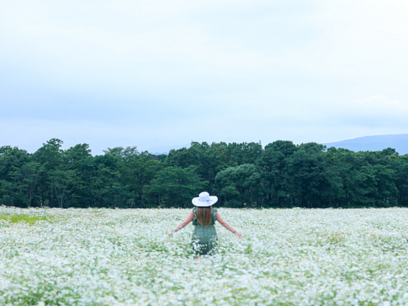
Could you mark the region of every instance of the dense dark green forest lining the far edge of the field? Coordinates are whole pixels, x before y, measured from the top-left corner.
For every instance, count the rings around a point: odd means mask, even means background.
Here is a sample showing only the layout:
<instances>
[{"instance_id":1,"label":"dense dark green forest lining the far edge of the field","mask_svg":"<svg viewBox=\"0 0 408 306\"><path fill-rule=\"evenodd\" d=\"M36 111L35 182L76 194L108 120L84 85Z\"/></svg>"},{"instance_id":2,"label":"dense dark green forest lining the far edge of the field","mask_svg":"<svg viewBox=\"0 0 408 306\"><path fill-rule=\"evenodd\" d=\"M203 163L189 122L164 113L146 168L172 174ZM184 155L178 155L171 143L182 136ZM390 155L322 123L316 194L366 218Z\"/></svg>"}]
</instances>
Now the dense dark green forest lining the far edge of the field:
<instances>
[{"instance_id":1,"label":"dense dark green forest lining the far edge of the field","mask_svg":"<svg viewBox=\"0 0 408 306\"><path fill-rule=\"evenodd\" d=\"M51 139L34 154L0 148L0 205L59 208L186 208L201 191L221 207L408 206L408 155L295 145L192 142L168 155L136 147L92 156Z\"/></svg>"}]
</instances>

